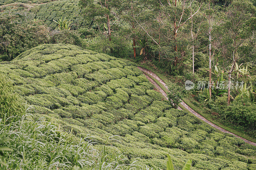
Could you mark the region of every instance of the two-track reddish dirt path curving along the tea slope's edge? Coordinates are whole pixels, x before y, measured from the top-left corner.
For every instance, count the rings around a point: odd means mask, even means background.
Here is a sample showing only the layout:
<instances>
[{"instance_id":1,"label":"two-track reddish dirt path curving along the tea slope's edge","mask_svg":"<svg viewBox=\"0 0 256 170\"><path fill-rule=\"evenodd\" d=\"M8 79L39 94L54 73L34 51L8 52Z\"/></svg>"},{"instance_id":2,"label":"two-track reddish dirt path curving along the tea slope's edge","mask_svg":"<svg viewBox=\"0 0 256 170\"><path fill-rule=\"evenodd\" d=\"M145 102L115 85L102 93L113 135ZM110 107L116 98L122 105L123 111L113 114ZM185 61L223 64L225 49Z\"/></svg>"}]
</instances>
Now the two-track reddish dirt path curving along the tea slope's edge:
<instances>
[{"instance_id":1,"label":"two-track reddish dirt path curving along the tea slope's edge","mask_svg":"<svg viewBox=\"0 0 256 170\"><path fill-rule=\"evenodd\" d=\"M159 81L161 84L163 84L166 89L168 89L168 86L165 84L165 82L164 82L162 79L160 79L155 73L149 71L148 69L145 69L145 68L143 68L143 67L138 67L138 68L146 75L146 77L148 78L148 80L149 80L152 84L154 84L157 89L159 89L159 91L164 95L164 97L165 97L166 99L168 99L167 94L165 93L165 91L164 91L153 79L151 79L147 74L149 74L149 75L151 75L152 77L154 77L157 81ZM147 74L146 74L146 73L147 73ZM220 130L221 132L234 135L234 136L236 136L236 137L242 139L244 142L256 146L256 143L251 142L251 141L248 141L247 139L244 139L244 138L242 138L242 137L240 137L240 136L238 136L238 135L235 135L235 134L233 134L233 133L231 133L231 132L229 132L229 131L227 131L227 130L225 130L225 129L223 129L223 128L220 128L219 126L213 124L213 123L210 122L209 120L206 120L202 115L200 115L200 114L198 114L197 112L195 112L195 111L194 111L191 107L189 107L185 102L182 101L180 104L181 104L183 107L185 107L189 112L191 112L192 114L194 114L198 119L203 120L205 123L207 123L207 124L211 125L212 127L216 128L216 129L218 129L218 130ZM178 109L179 109L179 110L182 110L180 107L179 107Z\"/></svg>"}]
</instances>

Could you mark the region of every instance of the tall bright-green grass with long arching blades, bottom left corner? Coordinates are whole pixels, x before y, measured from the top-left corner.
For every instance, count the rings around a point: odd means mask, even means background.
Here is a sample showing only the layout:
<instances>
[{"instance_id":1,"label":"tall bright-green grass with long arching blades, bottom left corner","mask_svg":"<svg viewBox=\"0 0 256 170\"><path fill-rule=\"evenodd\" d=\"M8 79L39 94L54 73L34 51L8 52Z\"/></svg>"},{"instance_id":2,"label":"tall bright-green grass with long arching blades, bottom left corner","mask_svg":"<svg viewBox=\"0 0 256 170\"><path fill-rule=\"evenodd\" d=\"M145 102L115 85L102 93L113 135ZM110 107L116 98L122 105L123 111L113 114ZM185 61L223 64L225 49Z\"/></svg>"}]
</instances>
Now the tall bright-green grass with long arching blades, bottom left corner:
<instances>
[{"instance_id":1,"label":"tall bright-green grass with long arching blades, bottom left corner","mask_svg":"<svg viewBox=\"0 0 256 170\"><path fill-rule=\"evenodd\" d=\"M44 118L32 121L33 115L5 124L0 119L1 146L8 147L0 156L3 169L123 169L119 156L93 149L87 138L63 134Z\"/></svg>"}]
</instances>

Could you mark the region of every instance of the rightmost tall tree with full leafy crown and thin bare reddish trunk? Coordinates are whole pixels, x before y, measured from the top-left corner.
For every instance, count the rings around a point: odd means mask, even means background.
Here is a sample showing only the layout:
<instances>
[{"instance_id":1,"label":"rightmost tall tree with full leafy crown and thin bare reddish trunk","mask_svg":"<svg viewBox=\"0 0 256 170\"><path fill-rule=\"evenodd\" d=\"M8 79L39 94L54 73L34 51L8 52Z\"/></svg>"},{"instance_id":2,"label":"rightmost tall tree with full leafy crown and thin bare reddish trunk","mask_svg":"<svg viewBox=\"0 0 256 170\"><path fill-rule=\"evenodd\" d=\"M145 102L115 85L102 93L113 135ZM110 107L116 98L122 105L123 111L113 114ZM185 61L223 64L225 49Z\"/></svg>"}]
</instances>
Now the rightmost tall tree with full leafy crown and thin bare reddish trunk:
<instances>
[{"instance_id":1,"label":"rightmost tall tree with full leafy crown and thin bare reddish trunk","mask_svg":"<svg viewBox=\"0 0 256 170\"><path fill-rule=\"evenodd\" d=\"M228 73L228 104L230 104L231 74L239 58L239 50L248 43L249 32L246 29L252 17L255 16L255 6L249 0L234 0L225 13L226 18L215 28L215 41L220 41L224 59L223 68ZM255 29L255 28L254 28Z\"/></svg>"}]
</instances>

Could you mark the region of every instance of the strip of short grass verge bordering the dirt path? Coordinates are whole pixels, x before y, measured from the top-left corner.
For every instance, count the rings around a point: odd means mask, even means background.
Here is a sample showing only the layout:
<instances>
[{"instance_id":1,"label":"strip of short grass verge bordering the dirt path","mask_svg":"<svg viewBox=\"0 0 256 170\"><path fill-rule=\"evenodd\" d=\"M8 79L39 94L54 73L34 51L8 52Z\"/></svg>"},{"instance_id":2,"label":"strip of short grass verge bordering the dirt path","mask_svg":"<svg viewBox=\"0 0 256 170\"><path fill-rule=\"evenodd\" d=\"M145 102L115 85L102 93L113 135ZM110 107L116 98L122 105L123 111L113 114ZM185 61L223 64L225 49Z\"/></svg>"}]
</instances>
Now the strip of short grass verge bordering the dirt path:
<instances>
[{"instance_id":1,"label":"strip of short grass verge bordering the dirt path","mask_svg":"<svg viewBox=\"0 0 256 170\"><path fill-rule=\"evenodd\" d=\"M167 86L170 86L171 83L173 82L176 82L177 84L182 84L181 81L182 79L180 80L177 80L175 78L173 78L172 76L162 72L161 70L157 69L157 68L154 68L150 65L150 63L139 63L138 66L141 66L141 67L144 67L144 68L147 68L148 70L154 72L158 77L160 77L165 83ZM151 76L152 77L152 76ZM154 79L154 81L157 82L157 84L161 84L159 81L157 81L156 79ZM166 88L162 85L160 86L165 92L166 92ZM220 120L216 119L216 117L212 114L209 114L209 110L208 108L205 108L205 107L199 107L199 106L196 106L195 104L193 103L198 103L196 102L193 98L184 98L183 101L188 104L189 107L191 107L194 111L196 111L197 113L201 114L205 119L211 121L212 123L214 123L215 125L223 128L223 129L226 129L227 131L229 132L232 132L238 136L241 136L243 137L244 139L247 139L249 141L252 141L252 142L256 142L256 137L253 137L253 136L250 136L248 135L244 130L240 130L240 129L237 129L235 125L232 125L232 124L223 124L220 122ZM197 104L198 105L198 104ZM179 106L182 108L182 109L185 109L184 107L182 107L180 104ZM219 131L220 132L220 131ZM221 132L222 133L222 132Z\"/></svg>"}]
</instances>

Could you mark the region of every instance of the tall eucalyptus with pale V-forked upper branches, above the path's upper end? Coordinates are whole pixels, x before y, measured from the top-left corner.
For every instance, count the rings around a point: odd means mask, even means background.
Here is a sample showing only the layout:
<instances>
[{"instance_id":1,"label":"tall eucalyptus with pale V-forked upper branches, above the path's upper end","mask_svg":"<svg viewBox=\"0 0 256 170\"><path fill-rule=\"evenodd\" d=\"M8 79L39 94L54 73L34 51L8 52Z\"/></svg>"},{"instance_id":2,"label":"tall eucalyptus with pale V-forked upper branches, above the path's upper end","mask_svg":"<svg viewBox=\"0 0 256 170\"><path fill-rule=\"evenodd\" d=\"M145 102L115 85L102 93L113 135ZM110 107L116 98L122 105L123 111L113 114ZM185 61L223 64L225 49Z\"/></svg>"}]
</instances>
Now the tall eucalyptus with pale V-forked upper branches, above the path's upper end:
<instances>
[{"instance_id":1,"label":"tall eucalyptus with pale V-forked upper branches, above the path's upper end","mask_svg":"<svg viewBox=\"0 0 256 170\"><path fill-rule=\"evenodd\" d=\"M139 26L147 33L147 35L162 51L162 56L159 58L173 61L173 65L176 66L179 63L179 59L184 57L186 53L184 49L180 48L183 44L180 42L183 40L186 41L186 38L184 37L186 36L184 26L192 17L196 15L196 13L199 12L202 4L199 4L199 2L195 0L174 0L172 2L170 0L149 0L147 3L150 4L149 6L153 10L158 12L158 15L156 15L155 19L151 21L151 25L154 26L153 30L158 30L157 32L159 35L156 36L156 31L150 32L149 29L143 25ZM190 9L192 4L194 4L193 7L195 8L193 10ZM191 13L191 11L193 11L193 13ZM159 24L156 25L156 23ZM178 43L180 44L178 45ZM170 45L172 45L171 48Z\"/></svg>"}]
</instances>

